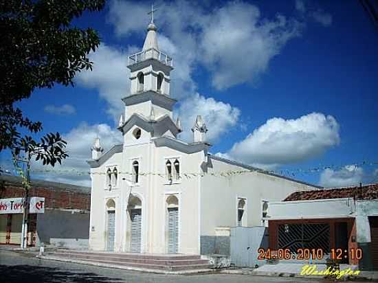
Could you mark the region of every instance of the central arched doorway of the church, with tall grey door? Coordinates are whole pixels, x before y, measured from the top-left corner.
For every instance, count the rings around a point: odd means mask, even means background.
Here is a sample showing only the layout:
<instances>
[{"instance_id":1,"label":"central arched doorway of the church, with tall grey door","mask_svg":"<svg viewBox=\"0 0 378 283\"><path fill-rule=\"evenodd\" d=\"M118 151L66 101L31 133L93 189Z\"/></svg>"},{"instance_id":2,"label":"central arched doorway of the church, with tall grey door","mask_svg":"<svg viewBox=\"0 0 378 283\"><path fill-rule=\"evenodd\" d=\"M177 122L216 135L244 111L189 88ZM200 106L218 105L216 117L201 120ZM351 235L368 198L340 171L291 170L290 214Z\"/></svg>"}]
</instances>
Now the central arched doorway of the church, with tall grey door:
<instances>
[{"instance_id":1,"label":"central arched doorway of the church, with tall grey door","mask_svg":"<svg viewBox=\"0 0 378 283\"><path fill-rule=\"evenodd\" d=\"M142 248L142 201L131 195L128 205L130 251L140 253Z\"/></svg>"}]
</instances>

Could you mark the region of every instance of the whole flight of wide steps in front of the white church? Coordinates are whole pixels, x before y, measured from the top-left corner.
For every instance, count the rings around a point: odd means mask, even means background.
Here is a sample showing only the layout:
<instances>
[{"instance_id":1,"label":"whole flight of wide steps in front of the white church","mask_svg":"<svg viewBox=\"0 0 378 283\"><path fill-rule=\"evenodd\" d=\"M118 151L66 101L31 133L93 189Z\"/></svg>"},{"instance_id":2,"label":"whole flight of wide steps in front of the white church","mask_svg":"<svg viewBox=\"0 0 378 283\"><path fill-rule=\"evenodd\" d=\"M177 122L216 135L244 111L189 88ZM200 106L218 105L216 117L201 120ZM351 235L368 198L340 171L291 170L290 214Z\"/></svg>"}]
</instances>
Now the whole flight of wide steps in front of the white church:
<instances>
[{"instance_id":1,"label":"whole flight of wide steps in front of the white church","mask_svg":"<svg viewBox=\"0 0 378 283\"><path fill-rule=\"evenodd\" d=\"M112 253L58 250L39 256L47 260L77 262L118 269L157 273L198 273L211 271L212 265L201 256L150 253Z\"/></svg>"}]
</instances>

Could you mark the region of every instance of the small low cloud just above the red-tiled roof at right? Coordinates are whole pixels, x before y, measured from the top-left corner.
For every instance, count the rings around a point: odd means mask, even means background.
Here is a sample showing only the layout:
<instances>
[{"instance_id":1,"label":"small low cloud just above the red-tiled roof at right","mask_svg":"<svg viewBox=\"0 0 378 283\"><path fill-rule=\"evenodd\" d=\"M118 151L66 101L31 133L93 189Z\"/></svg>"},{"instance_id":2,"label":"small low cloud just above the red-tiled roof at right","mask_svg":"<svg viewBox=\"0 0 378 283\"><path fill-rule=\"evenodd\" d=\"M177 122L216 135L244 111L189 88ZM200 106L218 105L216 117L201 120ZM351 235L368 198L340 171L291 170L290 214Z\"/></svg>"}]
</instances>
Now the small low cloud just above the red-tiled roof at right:
<instances>
[{"instance_id":1,"label":"small low cloud just above the red-tiled roof at right","mask_svg":"<svg viewBox=\"0 0 378 283\"><path fill-rule=\"evenodd\" d=\"M364 170L361 167L348 165L340 170L325 169L320 174L320 185L324 187L347 187L359 185L364 178Z\"/></svg>"}]
</instances>

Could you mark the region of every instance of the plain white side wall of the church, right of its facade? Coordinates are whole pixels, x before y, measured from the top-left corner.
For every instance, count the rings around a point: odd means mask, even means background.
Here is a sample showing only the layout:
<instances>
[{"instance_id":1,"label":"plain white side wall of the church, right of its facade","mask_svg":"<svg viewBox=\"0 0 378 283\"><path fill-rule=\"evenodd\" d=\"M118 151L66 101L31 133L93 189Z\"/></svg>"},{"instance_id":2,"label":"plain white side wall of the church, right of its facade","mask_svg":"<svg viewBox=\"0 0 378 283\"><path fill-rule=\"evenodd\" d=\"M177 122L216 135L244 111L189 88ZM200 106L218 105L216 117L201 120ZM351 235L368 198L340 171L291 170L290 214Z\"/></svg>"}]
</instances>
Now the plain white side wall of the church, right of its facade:
<instances>
[{"instance_id":1,"label":"plain white side wall of the church, right of its facade","mask_svg":"<svg viewBox=\"0 0 378 283\"><path fill-rule=\"evenodd\" d=\"M314 190L309 185L249 172L229 177L213 177L211 172L245 170L212 159L208 173L201 178L201 236L214 236L215 227L234 227L237 222L237 199L247 199L247 226L261 225L261 201L281 201L298 190Z\"/></svg>"}]
</instances>

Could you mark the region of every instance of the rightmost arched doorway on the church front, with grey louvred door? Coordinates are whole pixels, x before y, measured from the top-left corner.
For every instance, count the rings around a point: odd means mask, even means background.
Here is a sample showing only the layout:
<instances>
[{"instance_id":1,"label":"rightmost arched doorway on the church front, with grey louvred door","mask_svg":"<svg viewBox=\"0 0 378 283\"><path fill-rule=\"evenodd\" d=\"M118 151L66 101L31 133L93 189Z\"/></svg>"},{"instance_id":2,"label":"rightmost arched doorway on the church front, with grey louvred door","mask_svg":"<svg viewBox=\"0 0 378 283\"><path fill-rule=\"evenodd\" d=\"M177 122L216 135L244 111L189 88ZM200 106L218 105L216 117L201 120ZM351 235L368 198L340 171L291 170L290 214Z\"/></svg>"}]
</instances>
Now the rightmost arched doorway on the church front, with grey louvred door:
<instances>
[{"instance_id":1,"label":"rightmost arched doorway on the church front, with grey louvred door","mask_svg":"<svg viewBox=\"0 0 378 283\"><path fill-rule=\"evenodd\" d=\"M168 253L179 252L179 199L170 195L166 199L166 244Z\"/></svg>"}]
</instances>

